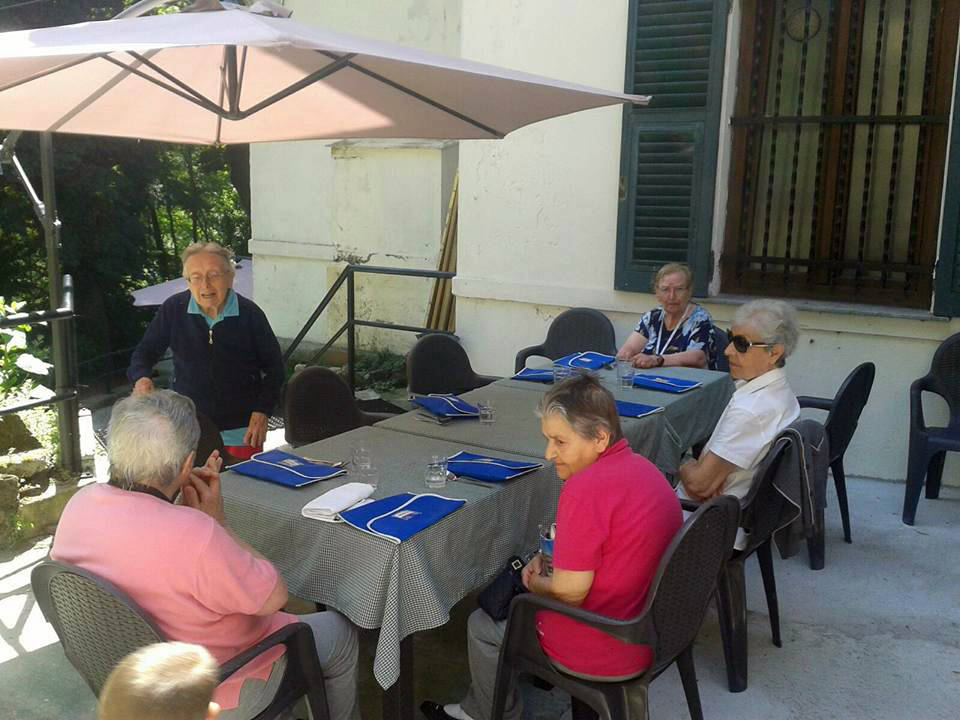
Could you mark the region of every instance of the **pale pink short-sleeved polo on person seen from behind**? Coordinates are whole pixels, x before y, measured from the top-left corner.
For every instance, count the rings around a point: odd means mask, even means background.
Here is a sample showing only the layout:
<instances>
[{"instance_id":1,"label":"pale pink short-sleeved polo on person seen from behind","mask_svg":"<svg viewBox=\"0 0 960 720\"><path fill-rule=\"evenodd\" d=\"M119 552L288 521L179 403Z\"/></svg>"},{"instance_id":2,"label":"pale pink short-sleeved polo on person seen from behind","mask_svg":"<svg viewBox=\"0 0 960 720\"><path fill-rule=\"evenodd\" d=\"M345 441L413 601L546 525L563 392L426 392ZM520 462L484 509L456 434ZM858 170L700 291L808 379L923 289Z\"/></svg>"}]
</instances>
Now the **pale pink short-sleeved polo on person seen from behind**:
<instances>
[{"instance_id":1,"label":"pale pink short-sleeved polo on person seen from behind","mask_svg":"<svg viewBox=\"0 0 960 720\"><path fill-rule=\"evenodd\" d=\"M209 515L159 497L90 485L63 511L50 557L89 570L126 592L170 640L197 643L224 663L293 615L254 615L277 571L243 548ZM277 648L223 683L214 700L237 705L245 678L266 680Z\"/></svg>"}]
</instances>

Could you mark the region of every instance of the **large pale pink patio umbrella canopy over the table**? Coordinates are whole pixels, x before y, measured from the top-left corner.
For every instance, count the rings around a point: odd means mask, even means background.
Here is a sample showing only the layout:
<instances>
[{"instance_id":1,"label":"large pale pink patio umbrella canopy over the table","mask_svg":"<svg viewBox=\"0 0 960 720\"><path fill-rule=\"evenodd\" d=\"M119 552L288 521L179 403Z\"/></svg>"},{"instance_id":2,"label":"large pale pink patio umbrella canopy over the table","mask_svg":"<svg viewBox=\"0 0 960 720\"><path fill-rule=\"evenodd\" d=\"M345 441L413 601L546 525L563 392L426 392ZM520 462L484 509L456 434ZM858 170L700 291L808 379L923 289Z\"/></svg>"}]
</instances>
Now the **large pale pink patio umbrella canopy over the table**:
<instances>
[{"instance_id":1,"label":"large pale pink patio umbrella canopy over the table","mask_svg":"<svg viewBox=\"0 0 960 720\"><path fill-rule=\"evenodd\" d=\"M648 100L241 9L0 33L0 127L16 130L196 144L501 138Z\"/></svg>"}]
</instances>

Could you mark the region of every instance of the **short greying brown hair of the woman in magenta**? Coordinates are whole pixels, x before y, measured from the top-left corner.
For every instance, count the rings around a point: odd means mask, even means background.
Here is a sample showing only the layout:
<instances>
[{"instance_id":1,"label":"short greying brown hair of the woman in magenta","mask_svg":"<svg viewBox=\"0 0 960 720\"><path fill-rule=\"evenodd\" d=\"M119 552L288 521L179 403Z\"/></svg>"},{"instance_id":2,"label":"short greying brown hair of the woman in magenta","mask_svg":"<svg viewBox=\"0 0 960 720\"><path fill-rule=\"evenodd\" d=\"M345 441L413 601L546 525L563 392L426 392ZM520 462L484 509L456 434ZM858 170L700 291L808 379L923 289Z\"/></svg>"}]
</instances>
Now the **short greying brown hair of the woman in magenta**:
<instances>
[{"instance_id":1,"label":"short greying brown hair of the woman in magenta","mask_svg":"<svg viewBox=\"0 0 960 720\"><path fill-rule=\"evenodd\" d=\"M560 415L581 437L595 440L601 432L610 436L610 445L620 441L620 415L613 395L589 375L564 380L540 399L537 417Z\"/></svg>"}]
</instances>

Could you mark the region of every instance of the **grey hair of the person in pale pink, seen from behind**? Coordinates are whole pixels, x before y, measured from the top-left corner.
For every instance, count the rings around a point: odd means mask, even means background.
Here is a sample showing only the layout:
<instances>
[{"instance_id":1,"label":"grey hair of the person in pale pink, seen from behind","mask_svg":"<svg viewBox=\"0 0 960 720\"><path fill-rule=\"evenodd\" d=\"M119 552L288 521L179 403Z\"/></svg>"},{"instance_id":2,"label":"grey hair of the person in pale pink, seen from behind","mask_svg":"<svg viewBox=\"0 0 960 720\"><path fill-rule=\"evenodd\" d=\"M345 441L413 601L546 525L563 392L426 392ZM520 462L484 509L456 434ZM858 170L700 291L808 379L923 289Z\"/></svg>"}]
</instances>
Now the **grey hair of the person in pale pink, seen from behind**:
<instances>
[{"instance_id":1,"label":"grey hair of the person in pale pink, seen from behind","mask_svg":"<svg viewBox=\"0 0 960 720\"><path fill-rule=\"evenodd\" d=\"M126 397L110 414L110 477L123 488L137 483L169 487L199 440L200 424L190 398L173 390Z\"/></svg>"}]
</instances>

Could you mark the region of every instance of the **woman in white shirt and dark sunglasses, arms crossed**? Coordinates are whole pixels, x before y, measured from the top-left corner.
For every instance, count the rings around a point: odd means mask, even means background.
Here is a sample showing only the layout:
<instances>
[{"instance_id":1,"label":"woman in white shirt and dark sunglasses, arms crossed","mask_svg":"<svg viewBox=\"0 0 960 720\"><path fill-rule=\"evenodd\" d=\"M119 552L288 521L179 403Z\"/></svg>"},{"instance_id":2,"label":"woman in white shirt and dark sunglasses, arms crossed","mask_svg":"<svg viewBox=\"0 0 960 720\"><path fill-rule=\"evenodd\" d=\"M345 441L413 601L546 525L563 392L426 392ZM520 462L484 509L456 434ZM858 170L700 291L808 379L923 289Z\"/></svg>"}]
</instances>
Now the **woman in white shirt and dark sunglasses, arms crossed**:
<instances>
[{"instance_id":1,"label":"woman in white shirt and dark sunglasses, arms crossed","mask_svg":"<svg viewBox=\"0 0 960 720\"><path fill-rule=\"evenodd\" d=\"M774 438L800 416L783 366L797 347L793 308L780 300L754 300L733 319L724 355L737 385L698 460L680 466L677 493L691 500L743 497Z\"/></svg>"}]
</instances>

